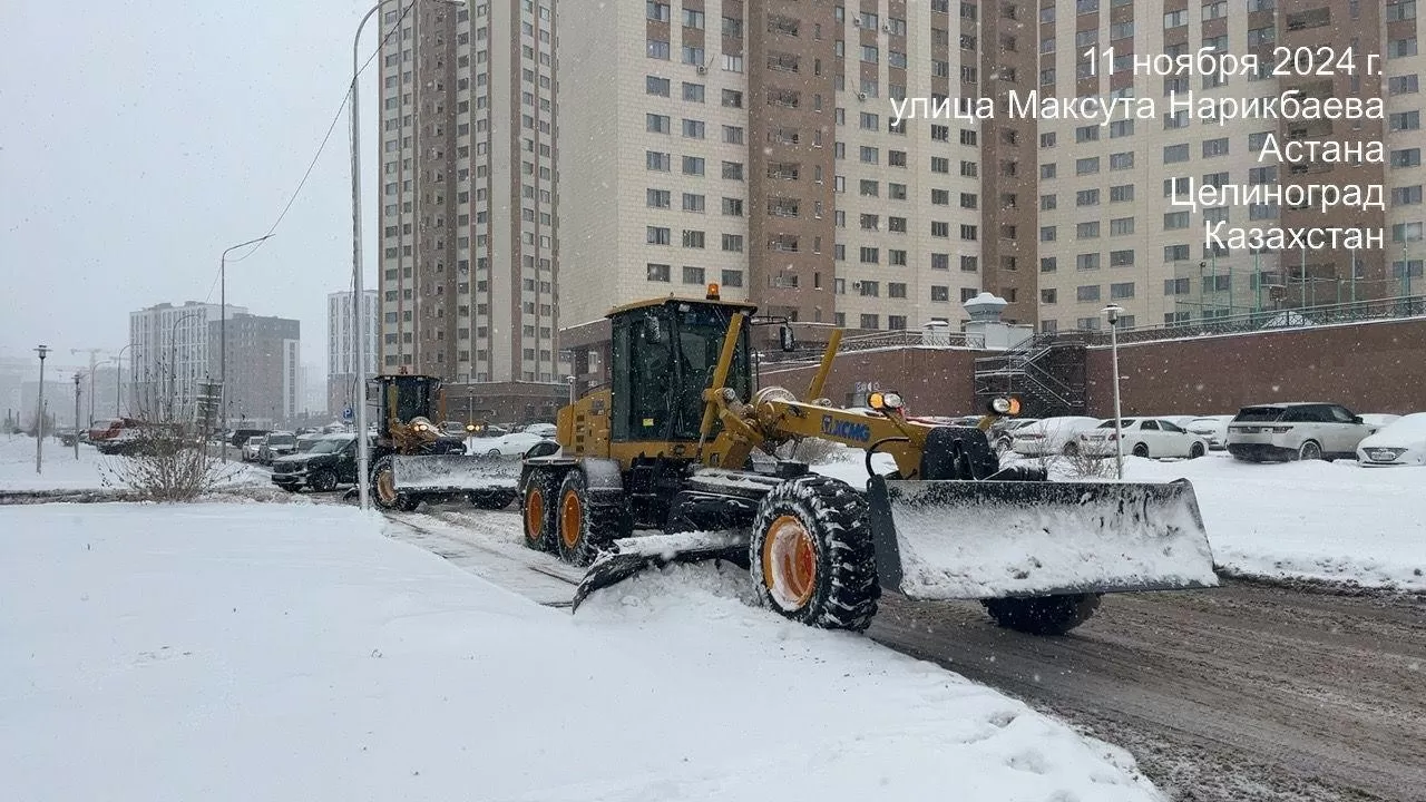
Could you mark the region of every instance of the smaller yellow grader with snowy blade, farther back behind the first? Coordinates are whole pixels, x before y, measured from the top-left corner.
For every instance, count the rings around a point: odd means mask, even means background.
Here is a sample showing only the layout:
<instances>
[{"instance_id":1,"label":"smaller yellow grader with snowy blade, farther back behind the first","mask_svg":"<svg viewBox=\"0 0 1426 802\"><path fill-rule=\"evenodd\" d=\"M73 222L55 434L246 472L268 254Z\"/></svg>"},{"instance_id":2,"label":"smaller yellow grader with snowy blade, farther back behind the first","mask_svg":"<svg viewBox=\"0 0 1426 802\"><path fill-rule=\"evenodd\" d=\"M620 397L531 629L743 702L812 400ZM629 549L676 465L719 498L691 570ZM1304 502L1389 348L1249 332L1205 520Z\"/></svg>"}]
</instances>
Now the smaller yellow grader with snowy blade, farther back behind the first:
<instances>
[{"instance_id":1,"label":"smaller yellow grader with snowy blade, farther back behind the first","mask_svg":"<svg viewBox=\"0 0 1426 802\"><path fill-rule=\"evenodd\" d=\"M445 390L436 377L378 375L368 398L376 410L371 494L384 509L415 509L422 501L466 499L503 509L519 497L519 458L466 454L465 437L442 431ZM466 421L465 435L483 422Z\"/></svg>"}]
</instances>

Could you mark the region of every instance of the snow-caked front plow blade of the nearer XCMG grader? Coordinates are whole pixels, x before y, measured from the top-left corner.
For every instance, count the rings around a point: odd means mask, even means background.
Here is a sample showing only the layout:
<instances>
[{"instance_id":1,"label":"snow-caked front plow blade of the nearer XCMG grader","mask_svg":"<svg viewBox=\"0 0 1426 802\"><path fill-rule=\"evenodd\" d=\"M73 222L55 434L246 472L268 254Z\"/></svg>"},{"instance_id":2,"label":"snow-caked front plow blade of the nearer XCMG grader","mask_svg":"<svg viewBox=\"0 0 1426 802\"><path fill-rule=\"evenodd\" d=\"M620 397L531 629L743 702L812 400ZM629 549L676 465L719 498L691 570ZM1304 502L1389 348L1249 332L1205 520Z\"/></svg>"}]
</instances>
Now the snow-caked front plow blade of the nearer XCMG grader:
<instances>
[{"instance_id":1,"label":"snow-caked front plow blade of the nearer XCMG grader","mask_svg":"<svg viewBox=\"0 0 1426 802\"><path fill-rule=\"evenodd\" d=\"M883 588L991 599L1218 585L1198 499L1166 484L867 482Z\"/></svg>"}]
</instances>

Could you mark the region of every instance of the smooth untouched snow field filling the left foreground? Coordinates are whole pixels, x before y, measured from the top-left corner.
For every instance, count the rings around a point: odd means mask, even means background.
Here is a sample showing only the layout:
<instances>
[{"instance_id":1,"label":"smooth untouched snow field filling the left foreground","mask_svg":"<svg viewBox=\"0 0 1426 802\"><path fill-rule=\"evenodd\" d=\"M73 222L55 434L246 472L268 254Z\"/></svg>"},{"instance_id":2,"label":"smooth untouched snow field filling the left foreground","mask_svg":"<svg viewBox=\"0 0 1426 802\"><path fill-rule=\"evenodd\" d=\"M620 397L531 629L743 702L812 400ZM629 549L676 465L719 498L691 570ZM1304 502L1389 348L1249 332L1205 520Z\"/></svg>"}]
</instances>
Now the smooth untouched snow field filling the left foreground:
<instances>
[{"instance_id":1,"label":"smooth untouched snow field filling the left foreground","mask_svg":"<svg viewBox=\"0 0 1426 802\"><path fill-rule=\"evenodd\" d=\"M1159 798L1020 702L743 604L740 574L684 567L572 616L379 527L0 508L0 796Z\"/></svg>"}]
</instances>

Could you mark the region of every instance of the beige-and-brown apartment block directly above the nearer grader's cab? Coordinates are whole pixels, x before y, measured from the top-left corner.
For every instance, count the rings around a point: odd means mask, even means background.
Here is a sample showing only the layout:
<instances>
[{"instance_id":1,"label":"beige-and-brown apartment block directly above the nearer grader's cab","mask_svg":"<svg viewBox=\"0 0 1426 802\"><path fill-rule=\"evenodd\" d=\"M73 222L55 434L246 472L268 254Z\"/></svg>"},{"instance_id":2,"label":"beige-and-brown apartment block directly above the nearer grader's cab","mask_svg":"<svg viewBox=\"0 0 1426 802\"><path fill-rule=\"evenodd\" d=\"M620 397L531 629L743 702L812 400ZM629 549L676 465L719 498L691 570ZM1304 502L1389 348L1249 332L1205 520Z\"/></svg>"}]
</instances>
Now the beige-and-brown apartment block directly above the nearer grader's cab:
<instances>
[{"instance_id":1,"label":"beige-and-brown apartment block directly above the nearer grader's cab","mask_svg":"<svg viewBox=\"0 0 1426 802\"><path fill-rule=\"evenodd\" d=\"M1032 320L1032 124L893 107L1028 78L1018 6L560 6L562 320L713 281L801 323L958 323L981 288Z\"/></svg>"}]
</instances>

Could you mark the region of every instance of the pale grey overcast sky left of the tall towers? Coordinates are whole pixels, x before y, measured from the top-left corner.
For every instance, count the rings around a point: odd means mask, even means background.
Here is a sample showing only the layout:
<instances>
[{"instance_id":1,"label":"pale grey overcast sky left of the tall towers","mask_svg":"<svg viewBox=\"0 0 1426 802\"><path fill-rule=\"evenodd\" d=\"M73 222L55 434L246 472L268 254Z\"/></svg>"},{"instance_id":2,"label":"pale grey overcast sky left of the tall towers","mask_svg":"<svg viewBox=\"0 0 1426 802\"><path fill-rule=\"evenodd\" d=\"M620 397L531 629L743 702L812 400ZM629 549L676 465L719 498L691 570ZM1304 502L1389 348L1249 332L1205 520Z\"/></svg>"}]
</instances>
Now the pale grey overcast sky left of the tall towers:
<instances>
[{"instance_id":1,"label":"pale grey overcast sky left of the tall towers","mask_svg":"<svg viewBox=\"0 0 1426 802\"><path fill-rule=\"evenodd\" d=\"M118 351L128 313L218 301L218 257L297 188L351 80L375 0L4 0L0 47L0 355ZM366 24L362 59L376 47ZM362 76L375 118L376 63ZM351 284L347 111L295 205L228 303L302 321L325 371L327 293ZM375 173L362 127L362 173ZM364 194L368 288L375 204ZM210 294L211 291L211 294Z\"/></svg>"}]
</instances>

